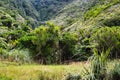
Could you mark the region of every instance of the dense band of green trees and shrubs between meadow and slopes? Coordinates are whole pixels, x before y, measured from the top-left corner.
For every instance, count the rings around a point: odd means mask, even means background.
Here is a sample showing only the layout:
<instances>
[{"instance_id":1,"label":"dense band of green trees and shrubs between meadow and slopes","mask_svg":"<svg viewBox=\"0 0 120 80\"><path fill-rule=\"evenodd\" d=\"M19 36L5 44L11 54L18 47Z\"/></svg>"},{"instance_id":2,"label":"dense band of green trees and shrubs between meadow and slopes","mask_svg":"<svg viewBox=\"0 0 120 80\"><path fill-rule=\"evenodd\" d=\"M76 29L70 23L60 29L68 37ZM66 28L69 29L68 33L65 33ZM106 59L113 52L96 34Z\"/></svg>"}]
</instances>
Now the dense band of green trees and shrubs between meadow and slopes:
<instances>
[{"instance_id":1,"label":"dense band of green trees and shrubs between meadow and slopes","mask_svg":"<svg viewBox=\"0 0 120 80\"><path fill-rule=\"evenodd\" d=\"M93 55L93 48L99 53L110 48L110 58L120 57L119 26L79 29L75 33L48 22L32 30L27 23L15 24L11 17L1 16L0 28L3 31L0 34L1 58L10 61L33 59L43 64L83 61Z\"/></svg>"}]
</instances>

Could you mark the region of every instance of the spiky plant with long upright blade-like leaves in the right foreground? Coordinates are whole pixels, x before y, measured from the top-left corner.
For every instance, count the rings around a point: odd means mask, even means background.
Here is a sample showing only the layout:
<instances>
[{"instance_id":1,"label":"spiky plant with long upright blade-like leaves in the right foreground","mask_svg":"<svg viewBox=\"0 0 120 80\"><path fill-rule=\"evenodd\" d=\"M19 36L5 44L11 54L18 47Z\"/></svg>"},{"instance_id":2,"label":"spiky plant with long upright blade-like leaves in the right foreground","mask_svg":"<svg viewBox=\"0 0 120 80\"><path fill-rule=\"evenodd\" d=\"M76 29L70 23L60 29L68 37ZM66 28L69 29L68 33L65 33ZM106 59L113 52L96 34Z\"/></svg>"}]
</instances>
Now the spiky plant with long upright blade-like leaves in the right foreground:
<instances>
[{"instance_id":1,"label":"spiky plant with long upright blade-like leaves in the right foreground","mask_svg":"<svg viewBox=\"0 0 120 80\"><path fill-rule=\"evenodd\" d=\"M94 55L91 65L92 65L92 73L95 79L104 79L106 74L106 64L107 58L110 53L110 49L107 51L102 51L100 54L98 50L94 49Z\"/></svg>"}]
</instances>

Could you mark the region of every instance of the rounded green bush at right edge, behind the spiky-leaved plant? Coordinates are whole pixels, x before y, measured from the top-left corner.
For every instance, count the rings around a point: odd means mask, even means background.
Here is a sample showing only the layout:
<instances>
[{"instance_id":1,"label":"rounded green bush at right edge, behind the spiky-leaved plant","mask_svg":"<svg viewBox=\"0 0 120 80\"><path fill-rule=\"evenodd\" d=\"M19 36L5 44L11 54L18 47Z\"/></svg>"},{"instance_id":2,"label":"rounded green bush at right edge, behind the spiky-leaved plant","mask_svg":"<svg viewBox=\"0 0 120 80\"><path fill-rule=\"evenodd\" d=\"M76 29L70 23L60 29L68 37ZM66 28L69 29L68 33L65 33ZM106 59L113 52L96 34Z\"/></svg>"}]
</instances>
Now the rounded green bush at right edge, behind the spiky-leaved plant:
<instances>
[{"instance_id":1,"label":"rounded green bush at right edge, behind the spiky-leaved plant","mask_svg":"<svg viewBox=\"0 0 120 80\"><path fill-rule=\"evenodd\" d=\"M91 44L95 45L99 51L112 48L111 57L118 57L120 48L120 28L100 28L94 35L92 35Z\"/></svg>"}]
</instances>

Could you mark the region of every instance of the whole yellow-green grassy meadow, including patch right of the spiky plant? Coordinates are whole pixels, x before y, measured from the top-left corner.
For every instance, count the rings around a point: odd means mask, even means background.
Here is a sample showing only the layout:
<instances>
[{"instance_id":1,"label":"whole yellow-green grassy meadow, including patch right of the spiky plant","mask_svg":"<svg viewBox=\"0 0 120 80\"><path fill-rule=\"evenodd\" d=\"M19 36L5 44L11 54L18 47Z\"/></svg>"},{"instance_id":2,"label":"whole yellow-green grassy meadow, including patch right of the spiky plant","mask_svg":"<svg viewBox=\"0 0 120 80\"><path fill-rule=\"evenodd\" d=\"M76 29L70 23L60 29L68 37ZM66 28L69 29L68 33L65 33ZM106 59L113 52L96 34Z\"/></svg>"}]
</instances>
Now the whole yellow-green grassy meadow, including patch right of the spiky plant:
<instances>
[{"instance_id":1,"label":"whole yellow-green grassy meadow, including patch right of the spiky plant","mask_svg":"<svg viewBox=\"0 0 120 80\"><path fill-rule=\"evenodd\" d=\"M106 67L108 75L119 71L119 67L115 68L116 64L120 64L120 60L108 61ZM91 71L90 63L77 62L66 65L20 65L13 62L0 62L0 80L79 80L67 79L67 77L70 75L74 77L77 75L84 76L85 69ZM110 75L108 77L110 77Z\"/></svg>"}]
</instances>

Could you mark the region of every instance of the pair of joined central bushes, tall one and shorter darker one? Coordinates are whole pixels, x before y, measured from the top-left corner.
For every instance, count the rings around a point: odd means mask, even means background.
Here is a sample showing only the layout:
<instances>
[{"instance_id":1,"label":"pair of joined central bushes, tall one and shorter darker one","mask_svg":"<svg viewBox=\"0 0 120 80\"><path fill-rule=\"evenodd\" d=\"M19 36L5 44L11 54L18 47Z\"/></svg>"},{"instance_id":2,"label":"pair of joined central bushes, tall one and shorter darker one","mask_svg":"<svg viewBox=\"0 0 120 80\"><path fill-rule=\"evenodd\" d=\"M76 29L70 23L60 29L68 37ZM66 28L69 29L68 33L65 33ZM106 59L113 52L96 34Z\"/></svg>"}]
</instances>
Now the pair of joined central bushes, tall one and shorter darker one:
<instances>
[{"instance_id":1,"label":"pair of joined central bushes, tall one and shorter darker one","mask_svg":"<svg viewBox=\"0 0 120 80\"><path fill-rule=\"evenodd\" d=\"M59 26L47 23L47 26L36 28L33 35L35 36L33 44L36 45L36 59L40 59L44 64L61 63L74 55L78 42L76 33L61 33Z\"/></svg>"}]
</instances>

